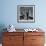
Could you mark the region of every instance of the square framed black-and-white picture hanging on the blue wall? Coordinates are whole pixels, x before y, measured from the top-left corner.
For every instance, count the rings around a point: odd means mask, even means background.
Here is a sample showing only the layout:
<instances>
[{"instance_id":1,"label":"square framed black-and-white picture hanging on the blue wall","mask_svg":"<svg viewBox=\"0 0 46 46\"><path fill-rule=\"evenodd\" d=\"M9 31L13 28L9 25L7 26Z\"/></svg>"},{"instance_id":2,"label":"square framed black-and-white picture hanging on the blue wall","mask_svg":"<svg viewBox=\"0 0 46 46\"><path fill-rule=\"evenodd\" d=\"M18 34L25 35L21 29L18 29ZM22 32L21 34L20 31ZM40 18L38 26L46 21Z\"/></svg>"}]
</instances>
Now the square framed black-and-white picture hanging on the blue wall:
<instances>
[{"instance_id":1,"label":"square framed black-and-white picture hanging on the blue wall","mask_svg":"<svg viewBox=\"0 0 46 46\"><path fill-rule=\"evenodd\" d=\"M22 23L35 22L35 5L18 5L17 21Z\"/></svg>"}]
</instances>

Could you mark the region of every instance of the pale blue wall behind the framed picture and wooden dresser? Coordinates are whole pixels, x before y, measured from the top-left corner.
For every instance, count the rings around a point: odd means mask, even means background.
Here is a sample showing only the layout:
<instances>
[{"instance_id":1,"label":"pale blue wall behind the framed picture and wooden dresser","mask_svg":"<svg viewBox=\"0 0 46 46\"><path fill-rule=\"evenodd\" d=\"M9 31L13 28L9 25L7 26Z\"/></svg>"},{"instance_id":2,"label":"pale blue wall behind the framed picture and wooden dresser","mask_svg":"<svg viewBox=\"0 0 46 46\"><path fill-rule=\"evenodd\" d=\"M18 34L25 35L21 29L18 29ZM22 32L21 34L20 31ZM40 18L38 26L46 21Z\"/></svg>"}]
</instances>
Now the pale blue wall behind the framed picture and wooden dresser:
<instances>
[{"instance_id":1,"label":"pale blue wall behind the framed picture and wooden dresser","mask_svg":"<svg viewBox=\"0 0 46 46\"><path fill-rule=\"evenodd\" d=\"M0 25L13 24L16 28L46 28L45 0L1 0ZM17 22L17 5L35 5L35 23Z\"/></svg>"}]
</instances>

